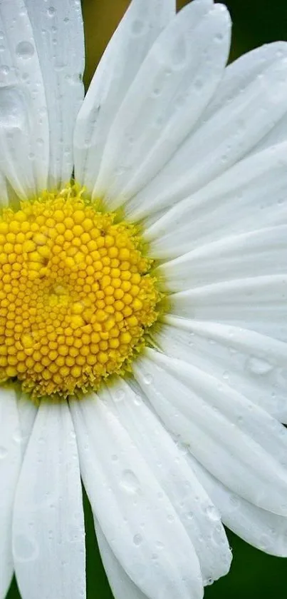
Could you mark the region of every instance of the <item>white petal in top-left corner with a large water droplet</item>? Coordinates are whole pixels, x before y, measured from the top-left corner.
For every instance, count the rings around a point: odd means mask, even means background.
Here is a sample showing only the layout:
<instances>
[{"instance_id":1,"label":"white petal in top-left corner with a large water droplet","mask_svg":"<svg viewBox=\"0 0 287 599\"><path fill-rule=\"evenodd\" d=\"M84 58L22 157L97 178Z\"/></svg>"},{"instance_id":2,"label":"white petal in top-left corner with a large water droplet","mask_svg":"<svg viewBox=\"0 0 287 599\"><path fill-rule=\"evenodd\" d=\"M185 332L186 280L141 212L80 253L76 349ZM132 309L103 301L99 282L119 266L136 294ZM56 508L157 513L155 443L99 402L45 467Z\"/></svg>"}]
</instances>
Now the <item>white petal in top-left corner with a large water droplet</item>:
<instances>
[{"instance_id":1,"label":"white petal in top-left corner with a large water droplet","mask_svg":"<svg viewBox=\"0 0 287 599\"><path fill-rule=\"evenodd\" d=\"M46 187L49 131L46 97L23 0L2 0L0 29L0 166L22 198Z\"/></svg>"}]
</instances>

